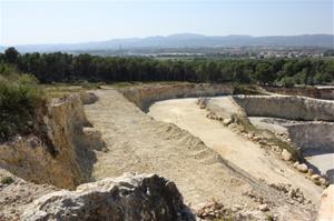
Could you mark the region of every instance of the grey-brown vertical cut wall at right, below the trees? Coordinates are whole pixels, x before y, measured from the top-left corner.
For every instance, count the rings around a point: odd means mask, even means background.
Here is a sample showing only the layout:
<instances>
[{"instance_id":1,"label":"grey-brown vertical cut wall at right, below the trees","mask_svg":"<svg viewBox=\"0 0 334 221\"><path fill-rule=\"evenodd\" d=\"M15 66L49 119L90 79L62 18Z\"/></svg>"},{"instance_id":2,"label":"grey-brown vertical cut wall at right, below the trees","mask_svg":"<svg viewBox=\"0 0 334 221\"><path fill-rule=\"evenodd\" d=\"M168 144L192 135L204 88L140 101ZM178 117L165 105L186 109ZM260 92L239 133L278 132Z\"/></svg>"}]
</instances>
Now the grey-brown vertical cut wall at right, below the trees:
<instances>
[{"instance_id":1,"label":"grey-brown vertical cut wall at right, below the trees","mask_svg":"<svg viewBox=\"0 0 334 221\"><path fill-rule=\"evenodd\" d=\"M235 96L248 117L334 121L334 101L285 96Z\"/></svg>"}]
</instances>

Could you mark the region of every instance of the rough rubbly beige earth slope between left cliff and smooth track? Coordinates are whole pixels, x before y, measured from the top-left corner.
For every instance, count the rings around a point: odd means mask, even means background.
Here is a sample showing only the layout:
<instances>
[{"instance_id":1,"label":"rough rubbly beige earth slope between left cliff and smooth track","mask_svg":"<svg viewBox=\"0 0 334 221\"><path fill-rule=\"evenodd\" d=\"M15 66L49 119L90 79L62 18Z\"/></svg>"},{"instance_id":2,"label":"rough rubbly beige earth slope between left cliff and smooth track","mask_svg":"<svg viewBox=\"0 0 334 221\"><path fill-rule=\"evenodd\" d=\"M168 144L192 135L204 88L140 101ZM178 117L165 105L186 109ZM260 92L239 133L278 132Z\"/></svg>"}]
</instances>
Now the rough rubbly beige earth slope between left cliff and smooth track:
<instances>
[{"instance_id":1,"label":"rough rubbly beige earth slope between left cliff and smooth track","mask_svg":"<svg viewBox=\"0 0 334 221\"><path fill-rule=\"evenodd\" d=\"M282 220L315 219L317 207L291 203L283 192L223 160L190 133L153 120L116 90L95 93L99 101L85 110L107 144L106 152L97 152L95 179L154 172L175 181L185 202L195 209L215 198L227 207L256 210L259 202L255 199L263 198ZM249 191L257 197L249 197Z\"/></svg>"}]
</instances>

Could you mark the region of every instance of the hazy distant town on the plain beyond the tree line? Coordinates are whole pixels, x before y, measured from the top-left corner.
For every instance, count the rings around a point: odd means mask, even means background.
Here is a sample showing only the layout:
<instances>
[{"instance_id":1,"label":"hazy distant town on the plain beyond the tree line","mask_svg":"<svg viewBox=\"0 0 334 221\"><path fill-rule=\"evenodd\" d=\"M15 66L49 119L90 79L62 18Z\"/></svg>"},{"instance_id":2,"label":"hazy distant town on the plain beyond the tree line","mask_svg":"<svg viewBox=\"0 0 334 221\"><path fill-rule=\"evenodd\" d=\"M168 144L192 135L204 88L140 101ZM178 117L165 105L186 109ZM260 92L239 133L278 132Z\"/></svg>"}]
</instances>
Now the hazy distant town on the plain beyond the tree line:
<instances>
[{"instance_id":1,"label":"hazy distant town on the plain beyond the tree line","mask_svg":"<svg viewBox=\"0 0 334 221\"><path fill-rule=\"evenodd\" d=\"M141 48L118 50L76 50L73 54L89 53L104 57L149 57L157 59L173 58L245 58L245 59L293 59L293 58L328 58L334 57L334 50L327 48Z\"/></svg>"}]
</instances>

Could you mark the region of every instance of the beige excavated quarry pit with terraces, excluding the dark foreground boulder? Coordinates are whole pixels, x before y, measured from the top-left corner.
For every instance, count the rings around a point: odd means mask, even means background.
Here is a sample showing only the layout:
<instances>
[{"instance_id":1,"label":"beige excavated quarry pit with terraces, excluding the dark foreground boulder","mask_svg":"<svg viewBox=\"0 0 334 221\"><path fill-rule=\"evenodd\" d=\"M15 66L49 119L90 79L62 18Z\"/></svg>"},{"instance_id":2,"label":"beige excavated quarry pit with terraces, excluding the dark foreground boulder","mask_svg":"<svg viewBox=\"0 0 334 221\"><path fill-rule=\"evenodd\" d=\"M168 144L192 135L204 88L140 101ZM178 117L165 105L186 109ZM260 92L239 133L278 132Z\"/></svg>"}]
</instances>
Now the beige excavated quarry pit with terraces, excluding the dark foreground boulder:
<instances>
[{"instance_id":1,"label":"beige excavated quarry pit with terraces, excluding the dark foreground boulder","mask_svg":"<svg viewBox=\"0 0 334 221\"><path fill-rule=\"evenodd\" d=\"M1 149L1 155L11 159L0 157L1 170L17 180L11 189L2 187L0 218L27 215L31 201L11 199L13 187L33 185L35 200L135 172L174 181L194 215L215 199L236 220L317 219L321 193L333 183L333 101L235 96L228 84L104 87L88 92L92 100L73 96L41 117L56 152L33 145L31 138L10 145L28 143L28 150ZM287 160L285 150L291 151ZM304 164L312 174L297 169Z\"/></svg>"}]
</instances>

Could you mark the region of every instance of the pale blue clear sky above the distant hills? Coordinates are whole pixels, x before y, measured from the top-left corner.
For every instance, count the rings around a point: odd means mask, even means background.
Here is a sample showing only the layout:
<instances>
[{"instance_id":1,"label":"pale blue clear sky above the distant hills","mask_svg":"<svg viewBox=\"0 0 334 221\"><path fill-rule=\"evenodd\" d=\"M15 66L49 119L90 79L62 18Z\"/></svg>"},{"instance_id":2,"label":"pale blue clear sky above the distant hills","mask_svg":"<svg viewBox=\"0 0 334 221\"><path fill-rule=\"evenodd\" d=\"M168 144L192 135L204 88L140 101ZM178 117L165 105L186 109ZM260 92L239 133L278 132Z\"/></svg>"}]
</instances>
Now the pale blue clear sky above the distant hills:
<instances>
[{"instance_id":1,"label":"pale blue clear sky above the distant hills","mask_svg":"<svg viewBox=\"0 0 334 221\"><path fill-rule=\"evenodd\" d=\"M333 33L334 0L0 0L0 46Z\"/></svg>"}]
</instances>

